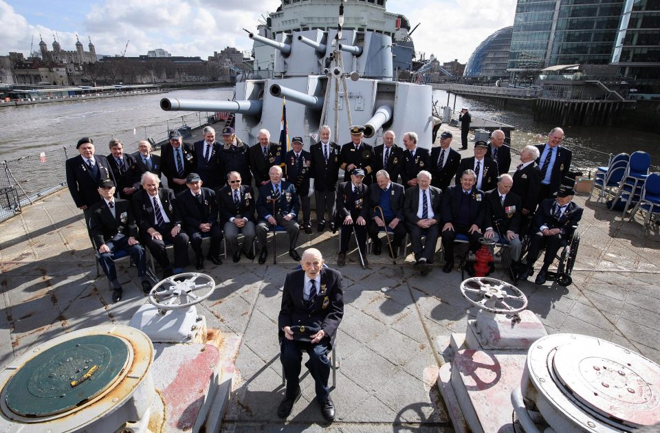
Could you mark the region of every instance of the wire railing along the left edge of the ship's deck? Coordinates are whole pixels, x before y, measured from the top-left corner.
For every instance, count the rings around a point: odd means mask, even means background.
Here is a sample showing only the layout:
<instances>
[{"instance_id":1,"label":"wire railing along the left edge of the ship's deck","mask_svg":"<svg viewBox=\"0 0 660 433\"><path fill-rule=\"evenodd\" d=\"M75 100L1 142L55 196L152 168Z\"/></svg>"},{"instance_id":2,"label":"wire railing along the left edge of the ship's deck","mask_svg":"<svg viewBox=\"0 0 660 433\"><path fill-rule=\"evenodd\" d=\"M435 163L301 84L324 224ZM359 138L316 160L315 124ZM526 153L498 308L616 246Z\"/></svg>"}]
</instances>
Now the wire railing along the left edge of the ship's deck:
<instances>
[{"instance_id":1,"label":"wire railing along the left edge of the ship's deck","mask_svg":"<svg viewBox=\"0 0 660 433\"><path fill-rule=\"evenodd\" d=\"M191 113L144 126L141 129L93 137L96 153L107 155L109 153L107 143L112 138L124 144L125 153L135 153L140 140L153 140L153 143L160 144L167 139L170 129L192 131L206 125L210 114ZM157 148L153 150L159 151ZM67 186L65 163L67 159L76 155L78 155L76 146L71 145L45 151L39 155L0 162L0 221L18 214L23 206L34 203L40 197Z\"/></svg>"}]
</instances>

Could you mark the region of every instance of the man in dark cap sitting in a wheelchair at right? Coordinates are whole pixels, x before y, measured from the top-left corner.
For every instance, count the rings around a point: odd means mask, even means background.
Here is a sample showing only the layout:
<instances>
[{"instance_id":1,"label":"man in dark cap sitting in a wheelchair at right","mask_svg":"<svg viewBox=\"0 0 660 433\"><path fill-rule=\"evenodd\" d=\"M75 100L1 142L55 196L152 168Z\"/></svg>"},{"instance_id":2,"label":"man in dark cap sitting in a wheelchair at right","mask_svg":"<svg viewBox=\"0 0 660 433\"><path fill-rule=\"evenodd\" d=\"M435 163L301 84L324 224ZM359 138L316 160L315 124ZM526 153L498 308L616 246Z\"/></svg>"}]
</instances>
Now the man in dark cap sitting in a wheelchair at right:
<instances>
[{"instance_id":1,"label":"man in dark cap sitting in a wheelchair at right","mask_svg":"<svg viewBox=\"0 0 660 433\"><path fill-rule=\"evenodd\" d=\"M518 280L527 280L532 267L542 247L545 246L543 266L536 275L536 284L543 284L547 279L547 271L552 265L562 242L573 236L573 226L582 219L582 208L573 201L575 190L570 186L560 186L557 199L544 199L538 205L534 221L529 232L531 243L527 252L527 267L518 275Z\"/></svg>"}]
</instances>

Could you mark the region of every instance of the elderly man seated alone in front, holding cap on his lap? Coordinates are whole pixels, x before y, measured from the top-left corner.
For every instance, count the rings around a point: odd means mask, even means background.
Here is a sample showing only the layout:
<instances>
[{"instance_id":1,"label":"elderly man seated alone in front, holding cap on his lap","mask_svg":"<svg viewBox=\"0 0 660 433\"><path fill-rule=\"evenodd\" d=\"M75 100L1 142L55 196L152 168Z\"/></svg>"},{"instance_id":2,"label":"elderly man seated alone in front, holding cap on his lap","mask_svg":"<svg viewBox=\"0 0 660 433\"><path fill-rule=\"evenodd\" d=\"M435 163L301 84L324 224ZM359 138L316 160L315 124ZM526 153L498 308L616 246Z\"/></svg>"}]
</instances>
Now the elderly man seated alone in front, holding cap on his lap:
<instances>
[{"instance_id":1,"label":"elderly man seated alone in front, holding cap on his lap","mask_svg":"<svg viewBox=\"0 0 660 433\"><path fill-rule=\"evenodd\" d=\"M328 388L328 353L344 316L344 292L342 274L323 267L323 263L318 249L305 249L300 260L303 269L289 272L284 282L277 320L280 361L287 379L285 398L277 410L281 418L288 417L300 399L300 362L306 351L309 361L305 366L314 378L321 414L327 421L335 419L335 406Z\"/></svg>"}]
</instances>

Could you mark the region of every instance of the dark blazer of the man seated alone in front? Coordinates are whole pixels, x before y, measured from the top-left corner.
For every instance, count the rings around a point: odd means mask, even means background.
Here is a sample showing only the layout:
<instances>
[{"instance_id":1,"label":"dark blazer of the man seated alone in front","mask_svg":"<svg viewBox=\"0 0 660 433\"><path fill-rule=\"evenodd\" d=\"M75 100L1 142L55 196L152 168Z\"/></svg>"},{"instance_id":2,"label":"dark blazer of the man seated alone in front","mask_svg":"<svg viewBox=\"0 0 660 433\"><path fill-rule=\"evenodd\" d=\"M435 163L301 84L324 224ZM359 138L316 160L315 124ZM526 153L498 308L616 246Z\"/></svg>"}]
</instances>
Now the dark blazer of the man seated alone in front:
<instances>
[{"instance_id":1,"label":"dark blazer of the man seated alone in front","mask_svg":"<svg viewBox=\"0 0 660 433\"><path fill-rule=\"evenodd\" d=\"M303 300L305 271L298 269L287 274L282 292L282 307L277 318L278 334L284 338L285 326L305 325L322 329L332 340L344 316L344 291L342 274L335 269L322 267L321 282L314 308L309 311Z\"/></svg>"}]
</instances>

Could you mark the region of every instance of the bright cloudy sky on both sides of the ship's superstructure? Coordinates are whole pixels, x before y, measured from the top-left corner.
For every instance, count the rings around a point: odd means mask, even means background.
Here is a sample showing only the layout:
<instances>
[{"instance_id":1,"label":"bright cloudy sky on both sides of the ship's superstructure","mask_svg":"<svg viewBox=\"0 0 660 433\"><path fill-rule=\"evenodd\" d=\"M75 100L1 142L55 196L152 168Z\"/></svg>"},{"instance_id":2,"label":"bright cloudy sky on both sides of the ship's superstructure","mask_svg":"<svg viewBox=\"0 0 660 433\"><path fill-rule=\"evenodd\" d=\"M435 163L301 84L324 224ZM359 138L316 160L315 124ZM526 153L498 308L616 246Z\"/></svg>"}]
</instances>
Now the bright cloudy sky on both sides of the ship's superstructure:
<instances>
[{"instance_id":1,"label":"bright cloudy sky on both sides of the ship's superstructure","mask_svg":"<svg viewBox=\"0 0 660 433\"><path fill-rule=\"evenodd\" d=\"M52 49L53 34L65 50L76 34L97 54L146 54L155 48L173 56L201 56L227 46L251 49L243 27L256 30L261 14L278 0L0 0L0 55L39 49L39 34ZM414 27L415 50L445 62L465 63L489 34L511 25L516 0L388 0L390 12L404 14Z\"/></svg>"}]
</instances>

